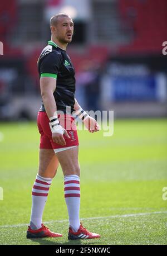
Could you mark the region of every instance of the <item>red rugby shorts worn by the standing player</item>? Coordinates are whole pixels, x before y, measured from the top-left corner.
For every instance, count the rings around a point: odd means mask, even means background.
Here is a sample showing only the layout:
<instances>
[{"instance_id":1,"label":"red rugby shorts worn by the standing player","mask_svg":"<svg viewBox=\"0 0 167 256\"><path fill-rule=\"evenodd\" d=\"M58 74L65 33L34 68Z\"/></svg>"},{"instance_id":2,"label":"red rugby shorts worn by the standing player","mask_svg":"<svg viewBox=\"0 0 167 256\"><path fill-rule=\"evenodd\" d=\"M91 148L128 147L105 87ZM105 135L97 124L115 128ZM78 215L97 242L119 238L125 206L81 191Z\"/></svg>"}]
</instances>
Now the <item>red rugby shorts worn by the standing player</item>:
<instances>
[{"instance_id":1,"label":"red rugby shorts worn by the standing player","mask_svg":"<svg viewBox=\"0 0 167 256\"><path fill-rule=\"evenodd\" d=\"M62 146L60 144L54 143L52 140L52 132L49 125L49 118L46 112L38 112L37 125L38 130L41 134L40 149L61 149L67 148L68 146L78 146L78 135L76 130L74 118L70 115L60 114L58 115L58 120L60 125L67 130L70 139L63 135L66 141L66 145Z\"/></svg>"}]
</instances>

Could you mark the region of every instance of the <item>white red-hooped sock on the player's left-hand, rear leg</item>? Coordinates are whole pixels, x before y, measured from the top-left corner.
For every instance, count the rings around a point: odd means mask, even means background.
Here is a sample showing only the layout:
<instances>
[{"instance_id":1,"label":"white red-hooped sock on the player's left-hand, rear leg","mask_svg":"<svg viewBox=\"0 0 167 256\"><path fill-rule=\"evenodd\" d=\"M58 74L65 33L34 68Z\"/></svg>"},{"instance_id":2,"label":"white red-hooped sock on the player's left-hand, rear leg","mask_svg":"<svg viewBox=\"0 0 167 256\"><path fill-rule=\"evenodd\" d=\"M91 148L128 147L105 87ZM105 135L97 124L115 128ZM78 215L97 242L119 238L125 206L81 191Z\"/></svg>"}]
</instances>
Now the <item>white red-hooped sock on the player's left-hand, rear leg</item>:
<instances>
[{"instance_id":1,"label":"white red-hooped sock on the player's left-hand, rear leg","mask_svg":"<svg viewBox=\"0 0 167 256\"><path fill-rule=\"evenodd\" d=\"M31 209L31 229L40 229L42 215L47 201L48 191L51 186L51 178L43 178L37 174L36 181L32 188L32 209Z\"/></svg>"}]
</instances>

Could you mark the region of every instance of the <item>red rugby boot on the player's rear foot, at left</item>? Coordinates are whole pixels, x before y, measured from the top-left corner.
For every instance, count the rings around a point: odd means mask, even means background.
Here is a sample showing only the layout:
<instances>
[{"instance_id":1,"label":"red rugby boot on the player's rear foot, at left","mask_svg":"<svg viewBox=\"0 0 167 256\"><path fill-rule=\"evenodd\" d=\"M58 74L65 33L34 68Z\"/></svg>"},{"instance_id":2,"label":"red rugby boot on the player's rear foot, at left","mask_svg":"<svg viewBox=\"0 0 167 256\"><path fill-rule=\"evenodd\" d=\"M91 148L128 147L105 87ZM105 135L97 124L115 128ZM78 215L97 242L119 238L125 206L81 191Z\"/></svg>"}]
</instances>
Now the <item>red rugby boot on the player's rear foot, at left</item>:
<instances>
[{"instance_id":1,"label":"red rugby boot on the player's rear foot, at left","mask_svg":"<svg viewBox=\"0 0 167 256\"><path fill-rule=\"evenodd\" d=\"M40 229L33 230L30 226L27 229L27 238L58 238L61 237L62 234L54 233L48 227L42 224Z\"/></svg>"}]
</instances>

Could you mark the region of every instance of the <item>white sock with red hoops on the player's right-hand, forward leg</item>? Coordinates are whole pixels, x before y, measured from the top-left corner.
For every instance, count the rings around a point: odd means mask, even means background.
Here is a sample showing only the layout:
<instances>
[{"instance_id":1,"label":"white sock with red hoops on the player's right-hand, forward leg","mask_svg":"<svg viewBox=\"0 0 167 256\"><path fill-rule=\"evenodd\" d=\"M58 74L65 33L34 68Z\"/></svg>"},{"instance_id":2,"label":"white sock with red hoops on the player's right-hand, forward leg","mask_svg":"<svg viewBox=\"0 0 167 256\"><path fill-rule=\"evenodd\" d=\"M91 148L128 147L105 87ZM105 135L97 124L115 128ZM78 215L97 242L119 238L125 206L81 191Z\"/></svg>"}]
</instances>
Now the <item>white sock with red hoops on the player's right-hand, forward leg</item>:
<instances>
[{"instance_id":1,"label":"white sock with red hoops on the player's right-hand, forward leg","mask_svg":"<svg viewBox=\"0 0 167 256\"><path fill-rule=\"evenodd\" d=\"M64 181L69 224L77 232L80 227L80 177L68 175L64 177Z\"/></svg>"}]
</instances>

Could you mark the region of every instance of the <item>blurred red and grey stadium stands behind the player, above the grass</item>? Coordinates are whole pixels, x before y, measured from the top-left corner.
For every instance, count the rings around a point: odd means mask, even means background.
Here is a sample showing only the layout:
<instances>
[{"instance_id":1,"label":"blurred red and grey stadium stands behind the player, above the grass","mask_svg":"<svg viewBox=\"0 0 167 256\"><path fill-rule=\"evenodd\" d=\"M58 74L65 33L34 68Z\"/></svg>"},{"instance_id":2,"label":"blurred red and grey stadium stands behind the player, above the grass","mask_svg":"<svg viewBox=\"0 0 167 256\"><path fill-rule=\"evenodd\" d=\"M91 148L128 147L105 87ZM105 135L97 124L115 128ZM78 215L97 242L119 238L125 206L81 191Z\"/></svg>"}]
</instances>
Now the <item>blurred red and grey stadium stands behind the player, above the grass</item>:
<instances>
[{"instance_id":1,"label":"blurred red and grey stadium stands behind the player, above the grass","mask_svg":"<svg viewBox=\"0 0 167 256\"><path fill-rule=\"evenodd\" d=\"M1 119L36 118L37 59L58 12L75 22L67 53L83 108L112 109L115 117L166 116L165 0L6 0L0 7Z\"/></svg>"}]
</instances>

